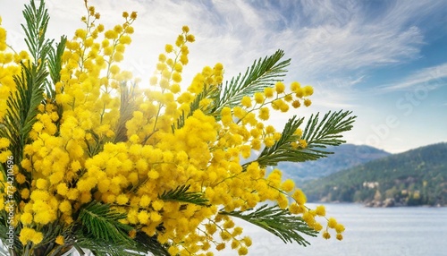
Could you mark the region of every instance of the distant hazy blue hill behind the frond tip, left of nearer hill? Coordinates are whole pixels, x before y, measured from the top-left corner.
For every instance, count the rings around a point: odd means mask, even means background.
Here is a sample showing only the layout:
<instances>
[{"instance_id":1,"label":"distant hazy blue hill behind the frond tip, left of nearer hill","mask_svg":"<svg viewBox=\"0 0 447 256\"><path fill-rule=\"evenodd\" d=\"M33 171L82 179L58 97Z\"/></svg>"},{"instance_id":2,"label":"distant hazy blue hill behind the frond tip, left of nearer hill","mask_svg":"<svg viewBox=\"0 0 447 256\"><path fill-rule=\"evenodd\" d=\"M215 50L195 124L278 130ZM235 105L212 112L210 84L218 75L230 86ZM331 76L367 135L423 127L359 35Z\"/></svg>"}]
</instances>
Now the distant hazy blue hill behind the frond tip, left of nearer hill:
<instances>
[{"instance_id":1,"label":"distant hazy blue hill behind the frond tip, left of nearer hill","mask_svg":"<svg viewBox=\"0 0 447 256\"><path fill-rule=\"evenodd\" d=\"M300 184L391 155L384 150L366 145L342 144L338 147L328 147L327 150L334 154L317 161L280 163L278 168L283 171L284 177Z\"/></svg>"}]
</instances>

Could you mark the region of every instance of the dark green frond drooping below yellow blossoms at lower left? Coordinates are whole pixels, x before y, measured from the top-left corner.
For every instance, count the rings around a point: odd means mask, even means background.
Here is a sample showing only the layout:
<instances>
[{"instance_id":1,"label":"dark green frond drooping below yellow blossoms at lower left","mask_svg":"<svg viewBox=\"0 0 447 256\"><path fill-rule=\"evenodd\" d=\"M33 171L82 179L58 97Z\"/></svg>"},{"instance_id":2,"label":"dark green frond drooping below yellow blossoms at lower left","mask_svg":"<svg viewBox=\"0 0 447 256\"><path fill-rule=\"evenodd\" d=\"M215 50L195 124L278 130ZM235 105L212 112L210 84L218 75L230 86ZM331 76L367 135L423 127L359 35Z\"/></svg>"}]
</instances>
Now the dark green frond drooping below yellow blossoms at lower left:
<instances>
[{"instance_id":1,"label":"dark green frond drooping below yellow blossoms at lower left","mask_svg":"<svg viewBox=\"0 0 447 256\"><path fill-rule=\"evenodd\" d=\"M125 214L111 210L108 204L91 201L80 209L78 220L83 236L110 244L131 244L133 241L128 233L132 227L122 224L120 220L123 218L126 218Z\"/></svg>"}]
</instances>

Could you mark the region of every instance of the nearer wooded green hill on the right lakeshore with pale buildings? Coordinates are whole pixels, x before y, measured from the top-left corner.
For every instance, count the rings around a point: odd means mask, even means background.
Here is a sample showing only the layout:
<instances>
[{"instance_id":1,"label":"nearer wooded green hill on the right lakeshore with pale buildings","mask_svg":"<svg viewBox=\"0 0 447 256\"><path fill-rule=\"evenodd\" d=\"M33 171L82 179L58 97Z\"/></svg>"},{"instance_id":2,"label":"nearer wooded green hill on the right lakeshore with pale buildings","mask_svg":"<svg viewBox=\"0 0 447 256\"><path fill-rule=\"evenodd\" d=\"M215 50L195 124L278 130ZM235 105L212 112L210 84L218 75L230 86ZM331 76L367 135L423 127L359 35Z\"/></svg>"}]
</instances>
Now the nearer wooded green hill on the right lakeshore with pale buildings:
<instances>
[{"instance_id":1,"label":"nearer wooded green hill on the right lakeshore with pale buildings","mask_svg":"<svg viewBox=\"0 0 447 256\"><path fill-rule=\"evenodd\" d=\"M447 143L412 149L306 183L309 201L447 205Z\"/></svg>"}]
</instances>

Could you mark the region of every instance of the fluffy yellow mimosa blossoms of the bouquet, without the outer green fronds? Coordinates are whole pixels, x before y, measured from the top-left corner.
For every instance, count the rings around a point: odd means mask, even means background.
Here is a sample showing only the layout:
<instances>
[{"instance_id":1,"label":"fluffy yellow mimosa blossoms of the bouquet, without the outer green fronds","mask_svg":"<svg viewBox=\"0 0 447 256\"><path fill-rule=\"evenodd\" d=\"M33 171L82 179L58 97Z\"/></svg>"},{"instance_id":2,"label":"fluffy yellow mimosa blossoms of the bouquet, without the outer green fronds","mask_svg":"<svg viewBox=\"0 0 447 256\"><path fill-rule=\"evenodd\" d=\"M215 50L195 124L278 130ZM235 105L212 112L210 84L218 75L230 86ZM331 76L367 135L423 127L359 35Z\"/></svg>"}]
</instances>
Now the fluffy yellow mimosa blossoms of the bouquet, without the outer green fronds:
<instances>
[{"instance_id":1,"label":"fluffy yellow mimosa blossoms of the bouquet, without the outer green fronds","mask_svg":"<svg viewBox=\"0 0 447 256\"><path fill-rule=\"evenodd\" d=\"M137 13L122 13L124 21L106 30L95 8L87 2L86 7L85 27L60 55L55 95L46 94L38 105L14 166L14 226L24 247L72 246L80 211L95 201L122 214L119 224L130 227L129 238L155 237L172 255L212 255L210 250L227 246L246 255L252 241L235 226L232 212L263 202L302 218L325 238L332 228L342 239L344 227L336 220L326 219L325 229L317 221L325 218L323 206L309 209L293 181L255 158L283 143L283 132L266 124L271 112L310 106L312 87L274 80L253 93L233 93L237 102L230 104L222 98L220 63L203 68L183 87L188 44L195 41L187 26L158 56L150 85L140 87L119 67ZM6 101L17 90L13 77L30 60L26 52L6 48L0 28L0 120L12 107ZM308 149L303 132L297 127L287 134L291 150ZM1 163L14 146L0 138ZM1 183L4 201L4 178ZM61 228L48 235L54 225Z\"/></svg>"}]
</instances>

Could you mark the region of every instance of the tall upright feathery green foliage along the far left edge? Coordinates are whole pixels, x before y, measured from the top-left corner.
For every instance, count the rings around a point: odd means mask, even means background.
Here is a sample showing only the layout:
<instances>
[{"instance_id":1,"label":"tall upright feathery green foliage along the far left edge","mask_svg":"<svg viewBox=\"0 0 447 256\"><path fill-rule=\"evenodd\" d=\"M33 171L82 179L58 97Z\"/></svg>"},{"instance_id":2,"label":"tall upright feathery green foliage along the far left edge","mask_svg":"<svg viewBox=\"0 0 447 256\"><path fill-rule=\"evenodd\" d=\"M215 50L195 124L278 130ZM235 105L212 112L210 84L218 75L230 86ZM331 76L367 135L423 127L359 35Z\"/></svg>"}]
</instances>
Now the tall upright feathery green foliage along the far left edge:
<instances>
[{"instance_id":1,"label":"tall upright feathery green foliage along the far left edge","mask_svg":"<svg viewBox=\"0 0 447 256\"><path fill-rule=\"evenodd\" d=\"M34 0L25 5L23 11L26 26L21 25L33 60L21 64L21 74L13 77L17 91L10 95L6 104L8 110L4 115L4 122L0 126L0 136L8 138L13 156L21 159L21 150L28 141L32 125L36 123L38 105L44 99L46 85L46 56L52 50L52 41L45 38L49 15L43 1L36 7Z\"/></svg>"}]
</instances>

